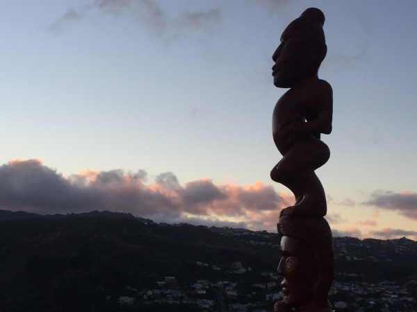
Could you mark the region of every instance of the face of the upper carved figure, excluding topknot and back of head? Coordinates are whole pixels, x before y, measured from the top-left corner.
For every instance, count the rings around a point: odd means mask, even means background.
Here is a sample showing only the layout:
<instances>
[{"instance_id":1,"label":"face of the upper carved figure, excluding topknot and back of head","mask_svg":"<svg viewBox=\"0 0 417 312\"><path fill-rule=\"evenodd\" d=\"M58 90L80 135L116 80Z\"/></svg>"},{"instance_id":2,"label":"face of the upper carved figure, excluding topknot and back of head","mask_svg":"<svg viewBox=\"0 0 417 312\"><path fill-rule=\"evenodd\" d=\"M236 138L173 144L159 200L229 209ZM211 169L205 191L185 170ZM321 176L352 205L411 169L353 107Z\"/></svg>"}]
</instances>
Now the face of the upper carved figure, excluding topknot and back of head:
<instances>
[{"instance_id":1,"label":"face of the upper carved figure, excluding topknot and back of head","mask_svg":"<svg viewBox=\"0 0 417 312\"><path fill-rule=\"evenodd\" d=\"M276 87L288 88L314 75L318 65L311 62L311 43L304 35L302 21L295 20L281 35L281 44L272 55L272 76Z\"/></svg>"}]
</instances>

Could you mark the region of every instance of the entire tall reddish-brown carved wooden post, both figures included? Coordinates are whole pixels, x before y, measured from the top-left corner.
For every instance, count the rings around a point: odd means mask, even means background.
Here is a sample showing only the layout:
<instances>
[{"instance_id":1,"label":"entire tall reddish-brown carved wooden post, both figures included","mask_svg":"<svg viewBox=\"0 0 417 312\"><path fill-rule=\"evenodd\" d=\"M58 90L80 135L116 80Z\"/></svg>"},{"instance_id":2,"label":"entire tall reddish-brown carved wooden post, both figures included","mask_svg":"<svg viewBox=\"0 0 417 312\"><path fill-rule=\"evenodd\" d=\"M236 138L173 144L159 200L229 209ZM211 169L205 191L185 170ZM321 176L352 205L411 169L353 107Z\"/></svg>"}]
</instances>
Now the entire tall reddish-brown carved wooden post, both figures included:
<instances>
[{"instance_id":1,"label":"entire tall reddish-brown carved wooden post, both figures included","mask_svg":"<svg viewBox=\"0 0 417 312\"><path fill-rule=\"evenodd\" d=\"M314 172L330 156L320 135L332 132L332 87L318 78L327 53L324 23L322 11L305 10L284 30L272 55L274 85L290 89L272 115L272 136L283 157L270 175L295 196L277 224L284 300L275 304L275 312L333 311L327 300L333 280L332 232L323 218L325 191Z\"/></svg>"}]
</instances>

